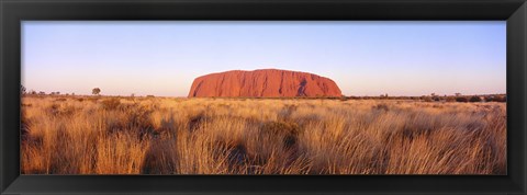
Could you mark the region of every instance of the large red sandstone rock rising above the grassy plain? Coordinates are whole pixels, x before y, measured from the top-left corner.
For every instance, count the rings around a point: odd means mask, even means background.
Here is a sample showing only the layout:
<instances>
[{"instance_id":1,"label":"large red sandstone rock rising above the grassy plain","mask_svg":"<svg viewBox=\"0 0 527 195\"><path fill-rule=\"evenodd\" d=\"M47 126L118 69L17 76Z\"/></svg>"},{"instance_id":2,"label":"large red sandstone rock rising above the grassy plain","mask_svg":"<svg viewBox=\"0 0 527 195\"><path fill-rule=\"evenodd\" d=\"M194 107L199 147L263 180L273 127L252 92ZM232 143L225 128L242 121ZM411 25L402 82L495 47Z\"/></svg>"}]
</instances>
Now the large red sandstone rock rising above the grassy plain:
<instances>
[{"instance_id":1,"label":"large red sandstone rock rising above the grassy plain","mask_svg":"<svg viewBox=\"0 0 527 195\"><path fill-rule=\"evenodd\" d=\"M194 79L189 97L293 97L341 96L337 84L313 73L261 69L232 70Z\"/></svg>"}]
</instances>

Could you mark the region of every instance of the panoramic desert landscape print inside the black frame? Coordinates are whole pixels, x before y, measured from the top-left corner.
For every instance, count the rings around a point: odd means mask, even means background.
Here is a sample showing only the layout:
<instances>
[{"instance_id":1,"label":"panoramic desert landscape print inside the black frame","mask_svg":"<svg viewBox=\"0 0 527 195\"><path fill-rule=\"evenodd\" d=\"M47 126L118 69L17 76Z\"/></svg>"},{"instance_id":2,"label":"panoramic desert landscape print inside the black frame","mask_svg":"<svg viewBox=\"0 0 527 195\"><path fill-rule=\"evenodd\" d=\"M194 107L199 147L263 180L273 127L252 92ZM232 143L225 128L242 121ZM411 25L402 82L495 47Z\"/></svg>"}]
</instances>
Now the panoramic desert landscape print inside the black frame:
<instances>
[{"instance_id":1,"label":"panoramic desert landscape print inside the black frame","mask_svg":"<svg viewBox=\"0 0 527 195\"><path fill-rule=\"evenodd\" d=\"M21 173L506 174L505 27L24 21Z\"/></svg>"}]
</instances>

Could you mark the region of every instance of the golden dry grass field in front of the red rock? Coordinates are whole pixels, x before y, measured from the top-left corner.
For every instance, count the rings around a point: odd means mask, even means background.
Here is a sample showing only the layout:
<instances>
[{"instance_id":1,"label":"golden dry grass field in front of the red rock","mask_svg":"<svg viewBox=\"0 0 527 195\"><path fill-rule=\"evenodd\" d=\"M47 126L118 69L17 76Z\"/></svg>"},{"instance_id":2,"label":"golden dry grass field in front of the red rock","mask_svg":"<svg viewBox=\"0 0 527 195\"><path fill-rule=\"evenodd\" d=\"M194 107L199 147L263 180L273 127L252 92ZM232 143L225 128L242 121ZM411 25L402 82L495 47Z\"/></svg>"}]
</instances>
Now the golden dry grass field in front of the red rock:
<instances>
[{"instance_id":1,"label":"golden dry grass field in front of the red rock","mask_svg":"<svg viewBox=\"0 0 527 195\"><path fill-rule=\"evenodd\" d=\"M24 96L23 174L505 174L505 103Z\"/></svg>"}]
</instances>

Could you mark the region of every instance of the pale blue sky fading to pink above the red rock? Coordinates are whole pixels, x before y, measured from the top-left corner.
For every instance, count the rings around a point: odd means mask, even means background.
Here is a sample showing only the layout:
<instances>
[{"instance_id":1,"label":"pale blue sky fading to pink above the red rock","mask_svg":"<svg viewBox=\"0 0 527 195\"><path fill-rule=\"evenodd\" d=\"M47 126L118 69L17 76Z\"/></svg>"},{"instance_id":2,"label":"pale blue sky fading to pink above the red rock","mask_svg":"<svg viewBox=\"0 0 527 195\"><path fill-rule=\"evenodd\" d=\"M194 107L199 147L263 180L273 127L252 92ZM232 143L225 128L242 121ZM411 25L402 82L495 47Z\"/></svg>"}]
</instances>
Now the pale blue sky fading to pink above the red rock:
<instances>
[{"instance_id":1,"label":"pale blue sky fading to pink above the red rock","mask_svg":"<svg viewBox=\"0 0 527 195\"><path fill-rule=\"evenodd\" d=\"M504 21L22 23L29 90L186 96L194 78L277 68L345 95L505 93Z\"/></svg>"}]
</instances>

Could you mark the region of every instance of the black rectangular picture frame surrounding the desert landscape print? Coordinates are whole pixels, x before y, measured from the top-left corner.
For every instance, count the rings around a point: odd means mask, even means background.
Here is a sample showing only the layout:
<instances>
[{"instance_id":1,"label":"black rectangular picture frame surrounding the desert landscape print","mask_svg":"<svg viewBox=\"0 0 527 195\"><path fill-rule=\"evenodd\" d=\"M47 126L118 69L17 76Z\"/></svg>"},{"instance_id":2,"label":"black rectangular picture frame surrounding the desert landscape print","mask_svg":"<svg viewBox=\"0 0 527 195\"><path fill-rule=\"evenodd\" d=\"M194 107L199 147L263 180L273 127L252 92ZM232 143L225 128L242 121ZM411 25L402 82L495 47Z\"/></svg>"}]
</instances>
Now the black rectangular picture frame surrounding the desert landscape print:
<instances>
[{"instance_id":1,"label":"black rectangular picture frame surrounding the desert landscape print","mask_svg":"<svg viewBox=\"0 0 527 195\"><path fill-rule=\"evenodd\" d=\"M507 175L20 175L24 20L503 20L507 23ZM525 0L1 0L0 21L1 194L527 192Z\"/></svg>"}]
</instances>

